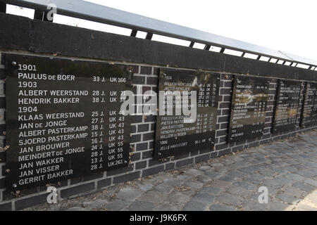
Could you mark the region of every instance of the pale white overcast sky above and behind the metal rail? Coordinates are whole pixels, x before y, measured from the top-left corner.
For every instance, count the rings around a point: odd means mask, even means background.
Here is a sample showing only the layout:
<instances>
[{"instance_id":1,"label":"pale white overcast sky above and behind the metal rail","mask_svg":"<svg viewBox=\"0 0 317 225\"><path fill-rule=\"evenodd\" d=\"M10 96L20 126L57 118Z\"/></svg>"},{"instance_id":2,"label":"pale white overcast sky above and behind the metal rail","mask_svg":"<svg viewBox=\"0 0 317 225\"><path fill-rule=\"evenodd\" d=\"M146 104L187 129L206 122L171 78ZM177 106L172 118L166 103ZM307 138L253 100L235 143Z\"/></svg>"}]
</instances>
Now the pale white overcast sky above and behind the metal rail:
<instances>
[{"instance_id":1,"label":"pale white overcast sky above and behind the metal rail","mask_svg":"<svg viewBox=\"0 0 317 225\"><path fill-rule=\"evenodd\" d=\"M316 0L87 1L317 60ZM57 16L54 22L130 34L130 30L65 17Z\"/></svg>"}]
</instances>

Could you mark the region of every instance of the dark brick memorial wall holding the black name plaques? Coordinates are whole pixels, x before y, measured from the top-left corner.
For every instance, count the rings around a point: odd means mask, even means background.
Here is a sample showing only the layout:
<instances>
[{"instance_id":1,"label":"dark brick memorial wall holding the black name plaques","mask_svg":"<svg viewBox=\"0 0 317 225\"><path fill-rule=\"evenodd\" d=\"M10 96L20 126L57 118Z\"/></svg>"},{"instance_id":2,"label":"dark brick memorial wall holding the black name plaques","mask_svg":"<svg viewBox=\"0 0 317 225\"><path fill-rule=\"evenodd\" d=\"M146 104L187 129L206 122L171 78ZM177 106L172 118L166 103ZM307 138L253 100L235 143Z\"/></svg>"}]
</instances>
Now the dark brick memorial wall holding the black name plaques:
<instances>
[{"instance_id":1,"label":"dark brick memorial wall holding the black name plaques","mask_svg":"<svg viewBox=\"0 0 317 225\"><path fill-rule=\"evenodd\" d=\"M46 203L47 186L63 200L317 126L317 72L0 19L0 210ZM133 115L121 109L128 91L142 96ZM142 114L147 91L157 115Z\"/></svg>"}]
</instances>

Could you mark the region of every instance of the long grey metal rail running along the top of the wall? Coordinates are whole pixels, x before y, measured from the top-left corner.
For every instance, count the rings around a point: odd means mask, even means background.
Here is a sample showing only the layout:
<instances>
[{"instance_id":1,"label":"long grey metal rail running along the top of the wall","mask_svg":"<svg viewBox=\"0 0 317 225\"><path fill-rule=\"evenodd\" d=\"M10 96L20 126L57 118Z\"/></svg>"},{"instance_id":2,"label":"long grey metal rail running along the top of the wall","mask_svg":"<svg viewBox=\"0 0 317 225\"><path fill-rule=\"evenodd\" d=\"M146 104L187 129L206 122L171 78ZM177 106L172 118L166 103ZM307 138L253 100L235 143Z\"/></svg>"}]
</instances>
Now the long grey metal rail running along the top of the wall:
<instances>
[{"instance_id":1,"label":"long grey metal rail running along the top of the wall","mask_svg":"<svg viewBox=\"0 0 317 225\"><path fill-rule=\"evenodd\" d=\"M118 27L125 27L132 30L131 36L135 37L138 31L147 32L146 39L151 39L153 34L159 34L166 37L173 37L190 41L190 47L194 43L205 44L204 50L209 50L211 46L220 47L220 53L225 49L241 51L242 57L245 53L255 54L259 60L261 56L278 59L290 62L290 65L297 66L298 64L307 65L308 69L316 68L317 61L300 56L295 56L290 53L268 49L263 46L250 44L228 37L222 37L208 32L202 32L189 27L167 23L161 20L148 18L134 13L120 11L115 8L100 6L81 0L0 0L4 4L12 4L15 6L22 6L26 8L33 8L35 11L45 13L48 4L55 4L57 13L60 15L67 15L73 18L80 18L84 20L91 20L94 22L105 23L108 25L115 25Z\"/></svg>"}]
</instances>

